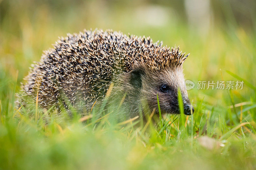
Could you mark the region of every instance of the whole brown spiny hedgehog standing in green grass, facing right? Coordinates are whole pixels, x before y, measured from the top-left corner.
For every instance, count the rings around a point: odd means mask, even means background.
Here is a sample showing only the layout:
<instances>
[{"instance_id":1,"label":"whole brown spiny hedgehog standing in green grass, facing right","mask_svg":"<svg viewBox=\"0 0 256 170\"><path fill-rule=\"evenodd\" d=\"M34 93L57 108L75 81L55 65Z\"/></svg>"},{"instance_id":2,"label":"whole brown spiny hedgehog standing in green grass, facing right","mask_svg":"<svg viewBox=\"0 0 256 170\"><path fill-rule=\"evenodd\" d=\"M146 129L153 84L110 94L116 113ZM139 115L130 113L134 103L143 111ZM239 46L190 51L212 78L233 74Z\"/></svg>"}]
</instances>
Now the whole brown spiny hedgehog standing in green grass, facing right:
<instances>
[{"instance_id":1,"label":"whole brown spiny hedgehog standing in green grass, facing right","mask_svg":"<svg viewBox=\"0 0 256 170\"><path fill-rule=\"evenodd\" d=\"M18 103L26 107L29 97L46 109L79 102L88 107L113 87L113 93L125 96L123 104L130 106L131 115L138 114L139 105L156 110L158 101L162 112L180 114L180 91L184 113L190 115L194 108L182 69L187 57L179 47L170 49L145 36L112 30L67 34L32 64Z\"/></svg>"}]
</instances>

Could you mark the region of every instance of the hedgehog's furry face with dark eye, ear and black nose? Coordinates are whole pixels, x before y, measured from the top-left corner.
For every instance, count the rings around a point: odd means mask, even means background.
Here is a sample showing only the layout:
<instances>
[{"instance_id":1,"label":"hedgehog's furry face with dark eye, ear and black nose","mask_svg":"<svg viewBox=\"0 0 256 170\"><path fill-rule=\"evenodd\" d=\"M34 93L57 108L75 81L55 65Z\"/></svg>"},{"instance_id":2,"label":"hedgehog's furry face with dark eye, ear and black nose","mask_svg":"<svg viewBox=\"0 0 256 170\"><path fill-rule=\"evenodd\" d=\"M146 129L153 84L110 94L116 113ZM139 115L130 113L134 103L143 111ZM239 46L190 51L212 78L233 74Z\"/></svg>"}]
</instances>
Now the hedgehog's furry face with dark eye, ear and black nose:
<instances>
[{"instance_id":1,"label":"hedgehog's furry face with dark eye, ear and black nose","mask_svg":"<svg viewBox=\"0 0 256 170\"><path fill-rule=\"evenodd\" d=\"M147 101L148 107L157 108L157 94L161 111L179 114L178 91L183 99L184 113L194 112L188 99L182 67L162 71L138 71L132 73L133 85L137 86L142 102Z\"/></svg>"}]
</instances>

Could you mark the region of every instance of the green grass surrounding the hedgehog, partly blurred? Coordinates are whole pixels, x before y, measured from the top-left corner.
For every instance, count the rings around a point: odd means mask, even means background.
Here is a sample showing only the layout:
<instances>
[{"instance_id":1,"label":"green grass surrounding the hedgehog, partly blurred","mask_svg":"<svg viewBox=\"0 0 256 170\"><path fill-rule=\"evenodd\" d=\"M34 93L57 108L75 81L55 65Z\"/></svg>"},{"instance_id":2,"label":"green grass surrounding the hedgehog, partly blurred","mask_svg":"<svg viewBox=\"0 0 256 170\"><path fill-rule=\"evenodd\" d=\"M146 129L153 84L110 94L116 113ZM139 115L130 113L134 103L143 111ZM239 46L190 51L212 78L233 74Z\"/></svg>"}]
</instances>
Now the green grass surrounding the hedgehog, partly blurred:
<instances>
[{"instance_id":1,"label":"green grass surrounding the hedgehog, partly blurred","mask_svg":"<svg viewBox=\"0 0 256 170\"><path fill-rule=\"evenodd\" d=\"M228 26L216 23L202 35L173 17L162 26L140 24L130 10L147 4L135 2L125 7L101 4L103 10L97 13L94 2L61 5L10 1L1 16L0 169L256 168L253 31L230 21ZM36 101L32 101L32 115L16 112L14 94L32 61L39 61L42 51L58 36L95 27L151 36L167 46L180 45L190 53L183 66L185 78L193 82L243 80L244 88L194 88L188 91L194 115L163 115L157 110L162 118L149 114L147 122L117 122L118 113L99 116L94 109L92 117L81 122L76 108L71 118L65 112L60 116L36 111Z\"/></svg>"}]
</instances>

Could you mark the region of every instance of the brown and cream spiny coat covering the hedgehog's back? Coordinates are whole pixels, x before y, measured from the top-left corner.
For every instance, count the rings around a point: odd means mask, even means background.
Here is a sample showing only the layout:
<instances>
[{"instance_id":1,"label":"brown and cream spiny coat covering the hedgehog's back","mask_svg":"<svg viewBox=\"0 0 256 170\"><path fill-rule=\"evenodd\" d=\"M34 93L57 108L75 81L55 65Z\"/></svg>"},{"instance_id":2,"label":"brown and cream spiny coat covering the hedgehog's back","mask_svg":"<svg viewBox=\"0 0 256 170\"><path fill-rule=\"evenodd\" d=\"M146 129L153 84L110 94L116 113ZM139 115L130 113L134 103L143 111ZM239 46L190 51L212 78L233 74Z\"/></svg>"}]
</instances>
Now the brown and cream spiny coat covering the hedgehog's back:
<instances>
[{"instance_id":1,"label":"brown and cream spiny coat covering the hedgehog's back","mask_svg":"<svg viewBox=\"0 0 256 170\"><path fill-rule=\"evenodd\" d=\"M123 89L129 89L129 73L140 67L152 74L181 70L183 78L182 63L187 56L179 48L162 47L149 37L102 30L68 34L54 48L44 51L41 61L32 66L19 101L26 106L24 95L36 100L38 92L38 103L44 108L58 108L63 94L71 104L92 103L104 97L109 85L120 75Z\"/></svg>"}]
</instances>

